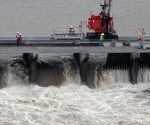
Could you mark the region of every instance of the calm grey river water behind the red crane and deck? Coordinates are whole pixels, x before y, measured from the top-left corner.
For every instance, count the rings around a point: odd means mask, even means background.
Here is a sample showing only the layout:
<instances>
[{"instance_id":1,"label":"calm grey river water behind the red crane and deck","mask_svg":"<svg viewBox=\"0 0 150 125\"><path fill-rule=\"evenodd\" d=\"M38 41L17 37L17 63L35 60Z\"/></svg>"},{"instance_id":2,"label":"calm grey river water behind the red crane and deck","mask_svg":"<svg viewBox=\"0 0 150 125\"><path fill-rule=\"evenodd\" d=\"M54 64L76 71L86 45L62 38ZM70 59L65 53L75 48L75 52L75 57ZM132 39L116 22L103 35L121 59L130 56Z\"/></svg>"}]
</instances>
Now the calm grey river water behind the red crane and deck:
<instances>
[{"instance_id":1,"label":"calm grey river water behind the red crane and deck","mask_svg":"<svg viewBox=\"0 0 150 125\"><path fill-rule=\"evenodd\" d=\"M149 0L113 0L112 14L119 35L137 36L134 25L150 35ZM101 0L0 0L0 36L49 36L57 26L79 25L99 13Z\"/></svg>"}]
</instances>

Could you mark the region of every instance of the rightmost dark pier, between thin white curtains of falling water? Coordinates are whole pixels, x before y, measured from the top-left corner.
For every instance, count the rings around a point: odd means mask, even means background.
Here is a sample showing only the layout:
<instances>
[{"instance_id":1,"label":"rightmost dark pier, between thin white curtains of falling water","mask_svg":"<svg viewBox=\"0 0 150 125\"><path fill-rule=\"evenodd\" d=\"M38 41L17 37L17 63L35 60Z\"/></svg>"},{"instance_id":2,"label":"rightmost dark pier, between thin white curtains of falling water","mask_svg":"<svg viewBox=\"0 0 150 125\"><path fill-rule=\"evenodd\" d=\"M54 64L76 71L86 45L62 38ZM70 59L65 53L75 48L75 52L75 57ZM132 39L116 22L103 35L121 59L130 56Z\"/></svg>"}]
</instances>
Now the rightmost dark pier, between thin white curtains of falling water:
<instances>
[{"instance_id":1,"label":"rightmost dark pier, between thin white curtains of falling water","mask_svg":"<svg viewBox=\"0 0 150 125\"><path fill-rule=\"evenodd\" d=\"M137 84L137 73L138 73L138 61L140 58L140 53L132 53L131 54L131 65L130 65L130 81L132 84Z\"/></svg>"}]
</instances>

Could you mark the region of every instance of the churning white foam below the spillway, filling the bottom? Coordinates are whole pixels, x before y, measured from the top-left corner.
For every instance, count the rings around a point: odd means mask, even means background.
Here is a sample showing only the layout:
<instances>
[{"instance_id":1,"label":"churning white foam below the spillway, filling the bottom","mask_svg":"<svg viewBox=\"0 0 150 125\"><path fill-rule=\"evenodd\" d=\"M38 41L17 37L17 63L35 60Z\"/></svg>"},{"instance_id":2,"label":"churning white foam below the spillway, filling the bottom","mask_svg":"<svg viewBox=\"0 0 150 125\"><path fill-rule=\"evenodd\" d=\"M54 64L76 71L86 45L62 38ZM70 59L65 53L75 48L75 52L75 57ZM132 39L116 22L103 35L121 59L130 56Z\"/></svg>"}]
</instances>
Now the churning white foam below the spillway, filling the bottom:
<instances>
[{"instance_id":1,"label":"churning white foam below the spillway, filling the bottom","mask_svg":"<svg viewBox=\"0 0 150 125\"><path fill-rule=\"evenodd\" d=\"M148 84L99 89L13 86L0 91L1 125L149 125Z\"/></svg>"}]
</instances>

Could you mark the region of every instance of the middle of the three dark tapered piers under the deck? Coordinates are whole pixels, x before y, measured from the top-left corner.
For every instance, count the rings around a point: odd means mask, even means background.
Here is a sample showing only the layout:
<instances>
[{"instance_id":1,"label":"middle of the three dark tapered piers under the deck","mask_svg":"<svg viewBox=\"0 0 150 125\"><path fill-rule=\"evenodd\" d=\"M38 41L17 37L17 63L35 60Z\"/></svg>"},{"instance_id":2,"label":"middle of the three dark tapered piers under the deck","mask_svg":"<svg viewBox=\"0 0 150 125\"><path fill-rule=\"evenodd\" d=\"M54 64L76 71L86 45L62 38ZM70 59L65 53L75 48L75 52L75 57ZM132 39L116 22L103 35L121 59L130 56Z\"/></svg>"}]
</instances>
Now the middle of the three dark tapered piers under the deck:
<instances>
[{"instance_id":1,"label":"middle of the three dark tapered piers under the deck","mask_svg":"<svg viewBox=\"0 0 150 125\"><path fill-rule=\"evenodd\" d=\"M87 62L89 59L89 53L74 53L74 58L78 63L80 70L81 81L87 83Z\"/></svg>"}]
</instances>

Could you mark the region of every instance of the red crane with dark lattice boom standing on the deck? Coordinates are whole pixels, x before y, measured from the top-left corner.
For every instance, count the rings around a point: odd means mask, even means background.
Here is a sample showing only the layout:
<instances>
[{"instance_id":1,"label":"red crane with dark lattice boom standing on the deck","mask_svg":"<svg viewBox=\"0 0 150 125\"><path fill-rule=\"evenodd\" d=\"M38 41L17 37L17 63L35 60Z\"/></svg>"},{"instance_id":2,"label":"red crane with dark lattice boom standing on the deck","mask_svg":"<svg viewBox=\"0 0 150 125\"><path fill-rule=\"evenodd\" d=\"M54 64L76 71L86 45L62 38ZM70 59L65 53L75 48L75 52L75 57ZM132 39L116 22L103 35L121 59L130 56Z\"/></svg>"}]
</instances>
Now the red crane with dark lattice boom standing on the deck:
<instances>
[{"instance_id":1,"label":"red crane with dark lattice boom standing on the deck","mask_svg":"<svg viewBox=\"0 0 150 125\"><path fill-rule=\"evenodd\" d=\"M112 0L104 0L104 4L100 4L102 10L99 14L92 14L88 18L88 29L94 32L87 32L87 38L97 39L101 33L105 33L105 39L118 39L116 30L114 29L113 16L110 14Z\"/></svg>"}]
</instances>

